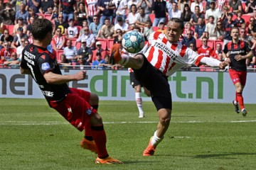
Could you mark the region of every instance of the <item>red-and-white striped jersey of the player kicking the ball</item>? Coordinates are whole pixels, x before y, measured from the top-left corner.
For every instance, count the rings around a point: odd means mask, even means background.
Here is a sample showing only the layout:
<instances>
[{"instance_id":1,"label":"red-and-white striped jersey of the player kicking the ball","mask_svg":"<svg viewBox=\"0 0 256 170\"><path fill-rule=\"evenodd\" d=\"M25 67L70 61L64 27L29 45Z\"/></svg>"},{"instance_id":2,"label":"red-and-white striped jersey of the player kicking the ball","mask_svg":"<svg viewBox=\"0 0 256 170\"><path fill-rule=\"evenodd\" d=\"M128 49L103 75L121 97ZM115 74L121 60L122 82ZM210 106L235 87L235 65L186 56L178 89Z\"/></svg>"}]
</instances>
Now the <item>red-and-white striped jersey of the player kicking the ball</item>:
<instances>
[{"instance_id":1,"label":"red-and-white striped jersey of the player kicking the ball","mask_svg":"<svg viewBox=\"0 0 256 170\"><path fill-rule=\"evenodd\" d=\"M167 77L183 66L200 64L203 57L189 47L181 45L181 42L169 42L166 35L161 32L151 33L142 51L147 60Z\"/></svg>"}]
</instances>

